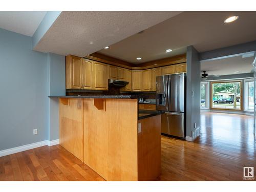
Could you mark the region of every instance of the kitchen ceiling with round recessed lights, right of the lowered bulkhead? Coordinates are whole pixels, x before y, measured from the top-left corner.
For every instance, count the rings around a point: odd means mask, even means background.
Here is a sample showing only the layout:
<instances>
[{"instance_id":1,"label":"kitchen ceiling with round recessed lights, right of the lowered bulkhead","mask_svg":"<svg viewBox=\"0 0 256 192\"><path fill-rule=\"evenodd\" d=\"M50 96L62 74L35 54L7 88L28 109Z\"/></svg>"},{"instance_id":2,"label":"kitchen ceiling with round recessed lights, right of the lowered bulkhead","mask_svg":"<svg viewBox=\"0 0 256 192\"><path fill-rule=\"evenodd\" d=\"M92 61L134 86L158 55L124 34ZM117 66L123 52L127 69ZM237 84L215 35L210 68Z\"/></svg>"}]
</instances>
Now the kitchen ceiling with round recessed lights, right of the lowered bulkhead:
<instances>
[{"instance_id":1,"label":"kitchen ceiling with round recessed lights, right of the lowered bulkhead","mask_svg":"<svg viewBox=\"0 0 256 192\"><path fill-rule=\"evenodd\" d=\"M231 15L239 19L224 24ZM189 45L204 52L256 40L255 23L256 12L182 12L98 52L132 63L185 53ZM166 53L166 49L173 52Z\"/></svg>"}]
</instances>

